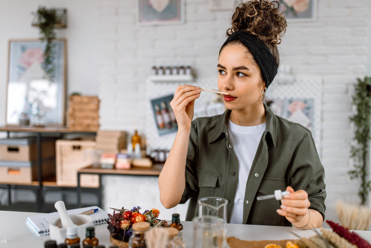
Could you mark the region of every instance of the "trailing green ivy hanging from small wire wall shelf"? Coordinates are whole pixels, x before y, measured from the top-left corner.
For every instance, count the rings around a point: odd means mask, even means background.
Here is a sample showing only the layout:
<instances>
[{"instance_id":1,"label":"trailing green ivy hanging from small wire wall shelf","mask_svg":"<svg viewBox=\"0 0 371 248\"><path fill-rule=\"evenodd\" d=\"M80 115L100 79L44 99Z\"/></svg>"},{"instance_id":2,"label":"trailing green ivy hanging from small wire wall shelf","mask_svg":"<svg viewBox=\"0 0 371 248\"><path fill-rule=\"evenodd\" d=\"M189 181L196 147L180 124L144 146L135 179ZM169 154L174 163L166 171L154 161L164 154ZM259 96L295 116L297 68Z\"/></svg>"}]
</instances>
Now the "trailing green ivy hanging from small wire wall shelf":
<instances>
[{"instance_id":1,"label":"trailing green ivy hanging from small wire wall shelf","mask_svg":"<svg viewBox=\"0 0 371 248\"><path fill-rule=\"evenodd\" d=\"M40 39L46 41L44 61L41 66L44 69L48 80L51 82L54 81L55 76L55 67L53 64L55 58L53 48L55 44L53 44L52 41L56 37L54 32L54 27L58 20L56 12L56 9L46 9L44 6L40 6L39 9L37 9L37 22L39 23L41 35Z\"/></svg>"}]
</instances>

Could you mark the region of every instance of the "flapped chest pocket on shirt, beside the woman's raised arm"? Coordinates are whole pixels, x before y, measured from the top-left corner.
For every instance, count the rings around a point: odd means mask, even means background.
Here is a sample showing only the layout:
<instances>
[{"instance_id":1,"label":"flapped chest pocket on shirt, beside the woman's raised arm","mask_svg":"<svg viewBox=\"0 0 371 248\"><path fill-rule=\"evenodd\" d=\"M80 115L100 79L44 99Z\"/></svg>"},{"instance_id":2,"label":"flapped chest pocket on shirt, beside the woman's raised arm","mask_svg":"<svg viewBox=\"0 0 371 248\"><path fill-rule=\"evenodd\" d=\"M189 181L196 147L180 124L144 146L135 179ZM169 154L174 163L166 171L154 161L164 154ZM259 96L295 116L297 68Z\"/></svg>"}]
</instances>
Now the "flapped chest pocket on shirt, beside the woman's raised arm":
<instances>
[{"instance_id":1,"label":"flapped chest pocket on shirt, beside the woman's raised arm","mask_svg":"<svg viewBox=\"0 0 371 248\"><path fill-rule=\"evenodd\" d=\"M196 169L198 189L200 190L198 198L214 196L215 187L218 181L218 175Z\"/></svg>"}]
</instances>

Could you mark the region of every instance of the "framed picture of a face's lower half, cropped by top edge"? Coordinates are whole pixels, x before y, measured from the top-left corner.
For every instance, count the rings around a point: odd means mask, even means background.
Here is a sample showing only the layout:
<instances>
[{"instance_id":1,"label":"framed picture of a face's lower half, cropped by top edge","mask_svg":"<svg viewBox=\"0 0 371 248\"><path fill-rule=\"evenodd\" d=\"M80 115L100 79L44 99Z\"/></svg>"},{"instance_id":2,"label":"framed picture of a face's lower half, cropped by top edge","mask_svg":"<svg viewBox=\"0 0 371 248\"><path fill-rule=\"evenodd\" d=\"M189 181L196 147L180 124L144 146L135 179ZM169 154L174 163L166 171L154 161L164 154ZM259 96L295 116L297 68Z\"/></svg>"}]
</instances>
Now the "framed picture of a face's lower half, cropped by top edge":
<instances>
[{"instance_id":1,"label":"framed picture of a face's lower half, cropped by top edge","mask_svg":"<svg viewBox=\"0 0 371 248\"><path fill-rule=\"evenodd\" d=\"M137 0L139 25L184 23L184 0Z\"/></svg>"}]
</instances>

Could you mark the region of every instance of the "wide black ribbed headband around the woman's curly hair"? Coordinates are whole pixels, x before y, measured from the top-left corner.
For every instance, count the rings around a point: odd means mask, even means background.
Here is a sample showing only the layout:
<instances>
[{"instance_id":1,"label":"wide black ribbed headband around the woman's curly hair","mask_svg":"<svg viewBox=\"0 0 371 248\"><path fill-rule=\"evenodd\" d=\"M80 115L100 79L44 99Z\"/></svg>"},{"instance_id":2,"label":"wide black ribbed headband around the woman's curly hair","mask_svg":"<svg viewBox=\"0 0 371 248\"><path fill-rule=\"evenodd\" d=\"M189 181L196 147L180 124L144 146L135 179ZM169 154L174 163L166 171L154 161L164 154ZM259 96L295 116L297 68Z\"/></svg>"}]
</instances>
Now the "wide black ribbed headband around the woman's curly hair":
<instances>
[{"instance_id":1,"label":"wide black ribbed headband around the woman's curly hair","mask_svg":"<svg viewBox=\"0 0 371 248\"><path fill-rule=\"evenodd\" d=\"M220 51L228 42L235 40L240 40L254 56L254 59L262 72L265 87L268 88L269 84L272 83L273 78L275 78L278 69L276 59L273 58L272 52L270 52L269 48L258 38L242 31L232 33L226 42L224 42L223 46L221 46Z\"/></svg>"}]
</instances>

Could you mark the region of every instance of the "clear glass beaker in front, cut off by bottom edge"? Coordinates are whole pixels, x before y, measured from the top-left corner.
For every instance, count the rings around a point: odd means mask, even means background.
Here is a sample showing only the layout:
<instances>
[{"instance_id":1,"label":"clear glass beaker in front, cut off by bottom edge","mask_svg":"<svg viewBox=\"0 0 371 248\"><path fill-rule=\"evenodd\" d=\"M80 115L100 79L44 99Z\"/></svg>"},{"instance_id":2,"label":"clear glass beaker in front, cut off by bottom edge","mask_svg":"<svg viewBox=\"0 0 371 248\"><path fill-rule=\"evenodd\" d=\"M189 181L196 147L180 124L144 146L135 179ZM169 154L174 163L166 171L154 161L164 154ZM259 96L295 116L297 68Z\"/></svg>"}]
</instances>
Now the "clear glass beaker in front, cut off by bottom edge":
<instances>
[{"instance_id":1,"label":"clear glass beaker in front, cut off by bottom edge","mask_svg":"<svg viewBox=\"0 0 371 248\"><path fill-rule=\"evenodd\" d=\"M193 219L192 248L226 248L227 225L216 216L198 216Z\"/></svg>"}]
</instances>

